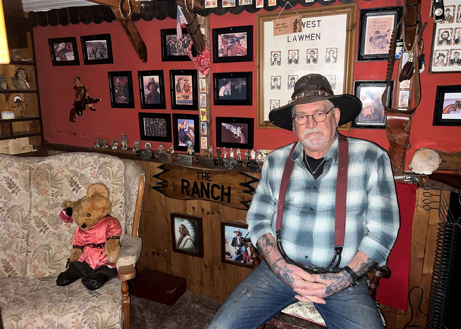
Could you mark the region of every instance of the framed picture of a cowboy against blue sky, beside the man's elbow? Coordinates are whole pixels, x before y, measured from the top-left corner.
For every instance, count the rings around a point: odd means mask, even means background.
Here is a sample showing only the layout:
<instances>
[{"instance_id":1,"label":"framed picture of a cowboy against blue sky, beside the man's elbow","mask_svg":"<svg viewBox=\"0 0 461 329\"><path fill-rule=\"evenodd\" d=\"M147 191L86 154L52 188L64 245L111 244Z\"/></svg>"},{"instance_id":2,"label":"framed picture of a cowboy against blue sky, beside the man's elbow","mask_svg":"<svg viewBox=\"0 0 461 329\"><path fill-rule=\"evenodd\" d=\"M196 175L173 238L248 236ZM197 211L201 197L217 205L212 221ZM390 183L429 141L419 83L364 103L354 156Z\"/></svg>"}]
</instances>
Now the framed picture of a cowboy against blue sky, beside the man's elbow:
<instances>
[{"instance_id":1,"label":"framed picture of a cowboy against blue sky, beside the man's elbow","mask_svg":"<svg viewBox=\"0 0 461 329\"><path fill-rule=\"evenodd\" d=\"M248 225L237 222L221 222L221 261L223 263L253 268L250 251L242 245L248 237Z\"/></svg>"}]
</instances>

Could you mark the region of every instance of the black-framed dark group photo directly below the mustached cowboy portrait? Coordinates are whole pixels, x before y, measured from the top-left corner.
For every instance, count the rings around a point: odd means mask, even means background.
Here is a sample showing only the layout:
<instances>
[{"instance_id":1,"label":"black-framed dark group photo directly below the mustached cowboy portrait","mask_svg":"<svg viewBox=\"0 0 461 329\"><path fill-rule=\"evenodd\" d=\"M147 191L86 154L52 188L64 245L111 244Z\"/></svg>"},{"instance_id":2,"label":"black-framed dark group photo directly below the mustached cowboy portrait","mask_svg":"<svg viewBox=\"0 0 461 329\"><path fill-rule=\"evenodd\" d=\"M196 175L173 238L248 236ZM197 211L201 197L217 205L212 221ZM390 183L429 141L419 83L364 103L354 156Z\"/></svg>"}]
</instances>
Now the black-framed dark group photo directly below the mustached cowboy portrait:
<instances>
[{"instance_id":1,"label":"black-framed dark group photo directly below the mustached cowboy portrait","mask_svg":"<svg viewBox=\"0 0 461 329\"><path fill-rule=\"evenodd\" d=\"M141 140L171 142L171 114L139 112L138 117Z\"/></svg>"}]
</instances>

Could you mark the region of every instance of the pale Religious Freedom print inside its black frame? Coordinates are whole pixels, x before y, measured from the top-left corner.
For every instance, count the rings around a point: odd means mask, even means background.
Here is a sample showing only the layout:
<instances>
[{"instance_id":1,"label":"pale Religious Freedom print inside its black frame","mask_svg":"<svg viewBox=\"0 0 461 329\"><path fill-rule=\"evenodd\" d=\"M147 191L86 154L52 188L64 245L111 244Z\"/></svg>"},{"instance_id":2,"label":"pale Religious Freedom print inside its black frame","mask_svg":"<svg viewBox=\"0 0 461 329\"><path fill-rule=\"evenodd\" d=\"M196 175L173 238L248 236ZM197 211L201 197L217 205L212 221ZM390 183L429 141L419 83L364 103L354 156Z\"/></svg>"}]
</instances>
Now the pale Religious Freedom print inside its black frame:
<instances>
[{"instance_id":1,"label":"pale Religious Freedom print inside its black frame","mask_svg":"<svg viewBox=\"0 0 461 329\"><path fill-rule=\"evenodd\" d=\"M389 52L390 35L394 29L394 20L395 15L367 17L364 48L366 55Z\"/></svg>"}]
</instances>

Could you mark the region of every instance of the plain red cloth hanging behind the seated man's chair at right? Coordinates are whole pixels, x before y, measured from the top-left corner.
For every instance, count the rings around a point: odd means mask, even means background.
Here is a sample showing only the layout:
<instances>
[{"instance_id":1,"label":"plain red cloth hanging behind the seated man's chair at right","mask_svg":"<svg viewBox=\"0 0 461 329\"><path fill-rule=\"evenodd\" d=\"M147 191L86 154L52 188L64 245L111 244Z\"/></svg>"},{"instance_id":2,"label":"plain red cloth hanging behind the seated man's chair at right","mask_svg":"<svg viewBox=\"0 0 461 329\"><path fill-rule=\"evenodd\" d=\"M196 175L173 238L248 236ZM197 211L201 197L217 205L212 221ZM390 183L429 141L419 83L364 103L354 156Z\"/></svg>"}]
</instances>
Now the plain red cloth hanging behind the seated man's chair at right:
<instances>
[{"instance_id":1,"label":"plain red cloth hanging behind the seated man's chair at right","mask_svg":"<svg viewBox=\"0 0 461 329\"><path fill-rule=\"evenodd\" d=\"M396 183L400 207L400 230L387 261L389 279L379 280L376 300L390 307L407 309L408 277L410 274L411 226L416 206L416 185Z\"/></svg>"}]
</instances>

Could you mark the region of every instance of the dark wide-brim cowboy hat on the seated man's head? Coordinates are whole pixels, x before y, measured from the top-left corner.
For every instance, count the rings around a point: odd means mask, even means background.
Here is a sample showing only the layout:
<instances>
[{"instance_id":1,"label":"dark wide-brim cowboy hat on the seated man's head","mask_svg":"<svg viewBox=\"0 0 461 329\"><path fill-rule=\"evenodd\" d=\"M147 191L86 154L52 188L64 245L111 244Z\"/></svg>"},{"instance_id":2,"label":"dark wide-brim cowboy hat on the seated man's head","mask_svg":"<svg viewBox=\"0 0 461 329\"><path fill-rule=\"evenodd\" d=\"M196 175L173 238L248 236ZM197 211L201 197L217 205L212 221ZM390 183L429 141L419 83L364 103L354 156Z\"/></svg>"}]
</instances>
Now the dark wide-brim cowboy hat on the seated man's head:
<instances>
[{"instance_id":1,"label":"dark wide-brim cowboy hat on the seated man's head","mask_svg":"<svg viewBox=\"0 0 461 329\"><path fill-rule=\"evenodd\" d=\"M354 120L362 110L362 102L353 95L335 95L328 80L320 74L304 75L296 81L291 102L269 112L269 121L277 127L293 130L293 106L328 99L341 112L338 126Z\"/></svg>"}]
</instances>

